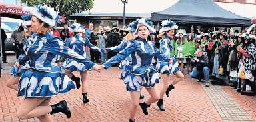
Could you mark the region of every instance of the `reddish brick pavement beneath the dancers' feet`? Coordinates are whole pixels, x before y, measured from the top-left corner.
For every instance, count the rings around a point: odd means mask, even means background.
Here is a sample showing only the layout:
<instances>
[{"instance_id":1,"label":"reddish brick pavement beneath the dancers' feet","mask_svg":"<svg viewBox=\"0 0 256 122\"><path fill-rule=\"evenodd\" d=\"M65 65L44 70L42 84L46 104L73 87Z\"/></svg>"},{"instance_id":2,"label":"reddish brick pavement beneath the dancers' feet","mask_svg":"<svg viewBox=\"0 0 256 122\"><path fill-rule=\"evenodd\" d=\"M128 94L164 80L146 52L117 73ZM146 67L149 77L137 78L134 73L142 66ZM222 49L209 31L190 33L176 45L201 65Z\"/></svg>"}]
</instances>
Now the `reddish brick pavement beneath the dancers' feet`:
<instances>
[{"instance_id":1,"label":"reddish brick pavement beneath the dancers' feet","mask_svg":"<svg viewBox=\"0 0 256 122\"><path fill-rule=\"evenodd\" d=\"M62 113L53 115L55 121L128 121L129 118L129 93L125 90L123 81L119 80L121 71L117 67L101 71L89 71L87 81L89 83L88 96L90 102L83 104L81 101L81 89L73 90L65 95L57 95L52 97L51 103L57 103L62 99L66 99L71 109L71 119L67 119ZM77 75L77 74L76 74ZM17 107L23 100L17 97L17 92L5 87L5 82L10 77L9 73L5 73L0 79L0 121L39 121L38 119L19 120L16 115ZM175 77L171 77L174 79ZM184 81L175 85L175 89L170 92L170 97L164 99L166 111L159 111L156 104L149 107L149 115L143 115L141 109L137 111L137 121L225 121L226 119L220 113L220 109L225 107L237 107L240 112L247 117L248 120L254 121L253 112L243 107L242 103L237 99L243 99L247 96L237 95L233 97L229 91L233 93L233 89L229 87L210 86L203 87L197 83L195 79L187 76ZM219 92L216 95L223 95L219 100L212 91ZM145 89L142 90L145 99L149 98L149 94ZM222 104L224 99L229 98L230 104L226 106ZM251 101L255 101L255 97L249 97ZM143 102L143 101L141 101ZM217 106L219 105L219 106ZM254 104L255 105L255 104ZM245 105L246 106L246 105ZM228 109L225 108L227 113ZM235 110L231 109L230 110ZM234 115L237 117L240 115ZM254 119L254 120L253 120ZM231 121L231 120L229 120Z\"/></svg>"}]
</instances>

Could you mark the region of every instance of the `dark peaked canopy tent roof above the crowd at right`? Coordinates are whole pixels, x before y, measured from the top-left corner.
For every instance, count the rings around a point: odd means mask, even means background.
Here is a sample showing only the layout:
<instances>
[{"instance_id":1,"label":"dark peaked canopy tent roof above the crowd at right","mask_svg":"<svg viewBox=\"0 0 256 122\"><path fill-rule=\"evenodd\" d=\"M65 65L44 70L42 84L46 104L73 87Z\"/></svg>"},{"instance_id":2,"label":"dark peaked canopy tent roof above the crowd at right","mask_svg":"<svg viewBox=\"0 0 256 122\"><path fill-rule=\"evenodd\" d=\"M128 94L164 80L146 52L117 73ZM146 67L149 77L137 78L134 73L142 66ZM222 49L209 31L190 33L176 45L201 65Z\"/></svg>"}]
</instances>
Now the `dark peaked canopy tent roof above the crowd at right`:
<instances>
[{"instance_id":1,"label":"dark peaked canopy tent roof above the crowd at right","mask_svg":"<svg viewBox=\"0 0 256 122\"><path fill-rule=\"evenodd\" d=\"M219 7L213 0L180 0L171 7L151 13L153 21L171 19L177 23L244 26L250 25L251 19L241 17Z\"/></svg>"}]
</instances>

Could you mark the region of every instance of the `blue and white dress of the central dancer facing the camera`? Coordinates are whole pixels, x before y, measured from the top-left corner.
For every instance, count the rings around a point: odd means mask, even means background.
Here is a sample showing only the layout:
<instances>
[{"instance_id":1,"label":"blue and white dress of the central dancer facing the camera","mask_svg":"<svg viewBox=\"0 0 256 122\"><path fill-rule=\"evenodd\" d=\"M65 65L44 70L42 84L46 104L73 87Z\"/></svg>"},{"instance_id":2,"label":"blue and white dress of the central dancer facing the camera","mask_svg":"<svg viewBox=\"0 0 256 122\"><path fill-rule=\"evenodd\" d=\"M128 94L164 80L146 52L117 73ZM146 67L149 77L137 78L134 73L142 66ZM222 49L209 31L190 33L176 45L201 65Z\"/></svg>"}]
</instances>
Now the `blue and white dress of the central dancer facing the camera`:
<instances>
[{"instance_id":1,"label":"blue and white dress of the central dancer facing the camera","mask_svg":"<svg viewBox=\"0 0 256 122\"><path fill-rule=\"evenodd\" d=\"M108 69L111 65L125 59L130 54L131 63L125 67L121 74L121 79L123 79L127 91L140 91L141 86L150 88L154 87L155 83L159 83L159 73L152 65L152 58L155 56L165 61L169 61L169 59L161 55L153 42L139 37L133 41L128 41L125 49L103 65L105 69Z\"/></svg>"}]
</instances>

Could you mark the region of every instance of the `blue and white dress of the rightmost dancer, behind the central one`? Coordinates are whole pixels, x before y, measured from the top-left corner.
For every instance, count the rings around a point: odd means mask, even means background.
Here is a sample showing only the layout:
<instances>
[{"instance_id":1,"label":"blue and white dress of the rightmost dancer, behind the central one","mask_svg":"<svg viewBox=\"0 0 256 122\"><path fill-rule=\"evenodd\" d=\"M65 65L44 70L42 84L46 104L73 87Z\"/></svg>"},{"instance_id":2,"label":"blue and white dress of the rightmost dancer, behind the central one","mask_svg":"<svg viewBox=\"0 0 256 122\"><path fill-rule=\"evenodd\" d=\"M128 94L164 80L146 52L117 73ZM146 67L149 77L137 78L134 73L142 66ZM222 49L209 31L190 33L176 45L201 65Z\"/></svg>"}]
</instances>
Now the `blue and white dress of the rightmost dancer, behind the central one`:
<instances>
[{"instance_id":1,"label":"blue and white dress of the rightmost dancer, behind the central one","mask_svg":"<svg viewBox=\"0 0 256 122\"><path fill-rule=\"evenodd\" d=\"M160 53L162 55L165 55L165 57L168 57L169 59L173 59L173 63L169 64L168 61L165 61L163 59L157 59L157 70L159 73L162 74L175 74L177 71L179 71L179 63L177 60L171 56L171 51L173 50L173 46L171 45L171 38L170 37L163 37L160 41Z\"/></svg>"}]
</instances>

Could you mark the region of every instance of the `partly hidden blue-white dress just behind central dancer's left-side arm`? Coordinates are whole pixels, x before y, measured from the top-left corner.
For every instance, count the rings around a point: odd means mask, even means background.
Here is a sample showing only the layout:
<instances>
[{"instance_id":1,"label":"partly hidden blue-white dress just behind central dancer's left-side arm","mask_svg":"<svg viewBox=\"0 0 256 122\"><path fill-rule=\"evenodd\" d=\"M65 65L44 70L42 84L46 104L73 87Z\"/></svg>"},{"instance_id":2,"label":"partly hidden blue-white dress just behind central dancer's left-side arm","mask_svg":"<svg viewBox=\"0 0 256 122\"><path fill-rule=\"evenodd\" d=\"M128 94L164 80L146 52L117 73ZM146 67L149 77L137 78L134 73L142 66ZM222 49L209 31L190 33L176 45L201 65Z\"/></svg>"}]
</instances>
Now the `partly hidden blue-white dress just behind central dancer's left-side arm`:
<instances>
[{"instance_id":1,"label":"partly hidden blue-white dress just behind central dancer's left-side arm","mask_svg":"<svg viewBox=\"0 0 256 122\"><path fill-rule=\"evenodd\" d=\"M119 52L125 49L127 46L127 42L125 40L121 41L121 43L115 47L106 48L107 52ZM131 63L131 55L120 61L118 68L124 70L127 65Z\"/></svg>"}]
</instances>

